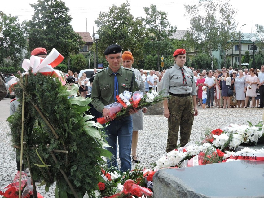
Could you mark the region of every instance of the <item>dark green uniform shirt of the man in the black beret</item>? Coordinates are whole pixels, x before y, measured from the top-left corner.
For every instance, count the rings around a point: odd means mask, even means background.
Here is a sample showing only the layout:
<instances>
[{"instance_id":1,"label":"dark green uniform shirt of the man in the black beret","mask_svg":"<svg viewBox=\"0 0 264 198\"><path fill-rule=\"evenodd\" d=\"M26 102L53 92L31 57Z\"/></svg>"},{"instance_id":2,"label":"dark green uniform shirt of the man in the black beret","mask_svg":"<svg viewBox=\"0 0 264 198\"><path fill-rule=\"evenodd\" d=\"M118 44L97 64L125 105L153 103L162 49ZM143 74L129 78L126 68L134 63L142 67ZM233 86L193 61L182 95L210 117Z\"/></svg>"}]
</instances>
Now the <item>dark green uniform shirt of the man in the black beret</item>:
<instances>
[{"instance_id":1,"label":"dark green uniform shirt of the man in the black beret","mask_svg":"<svg viewBox=\"0 0 264 198\"><path fill-rule=\"evenodd\" d=\"M91 103L99 112L103 112L104 106L115 102L114 78L113 71L109 66L95 75ZM120 66L117 71L117 81L118 94L123 93L125 90L130 92L139 91L138 83L136 83L134 72L131 69Z\"/></svg>"}]
</instances>

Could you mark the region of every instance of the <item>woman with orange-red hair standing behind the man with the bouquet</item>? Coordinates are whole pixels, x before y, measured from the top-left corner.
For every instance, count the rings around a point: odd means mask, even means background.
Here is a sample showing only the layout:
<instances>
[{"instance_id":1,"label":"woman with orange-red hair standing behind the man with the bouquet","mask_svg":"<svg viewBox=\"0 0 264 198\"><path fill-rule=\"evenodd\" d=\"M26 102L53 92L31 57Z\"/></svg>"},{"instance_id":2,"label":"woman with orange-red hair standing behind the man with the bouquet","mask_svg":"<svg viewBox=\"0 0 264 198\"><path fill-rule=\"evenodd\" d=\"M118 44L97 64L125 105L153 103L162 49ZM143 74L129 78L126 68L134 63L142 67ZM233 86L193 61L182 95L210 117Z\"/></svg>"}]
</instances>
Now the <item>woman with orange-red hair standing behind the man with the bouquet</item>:
<instances>
[{"instance_id":1,"label":"woman with orange-red hair standing behind the man with the bouquet","mask_svg":"<svg viewBox=\"0 0 264 198\"><path fill-rule=\"evenodd\" d=\"M134 71L136 81L139 86L139 90L145 95L145 86L143 79L141 77L141 74L139 70L132 67L132 64L134 63L133 55L130 51L124 51L122 54L122 65L125 68L129 68ZM132 133L132 161L139 163L140 160L137 156L137 145L138 145L138 139L139 139L139 130L143 130L143 113L147 112L147 108L144 107L141 110L139 110L137 113L132 114L132 120L133 120L133 133Z\"/></svg>"}]
</instances>

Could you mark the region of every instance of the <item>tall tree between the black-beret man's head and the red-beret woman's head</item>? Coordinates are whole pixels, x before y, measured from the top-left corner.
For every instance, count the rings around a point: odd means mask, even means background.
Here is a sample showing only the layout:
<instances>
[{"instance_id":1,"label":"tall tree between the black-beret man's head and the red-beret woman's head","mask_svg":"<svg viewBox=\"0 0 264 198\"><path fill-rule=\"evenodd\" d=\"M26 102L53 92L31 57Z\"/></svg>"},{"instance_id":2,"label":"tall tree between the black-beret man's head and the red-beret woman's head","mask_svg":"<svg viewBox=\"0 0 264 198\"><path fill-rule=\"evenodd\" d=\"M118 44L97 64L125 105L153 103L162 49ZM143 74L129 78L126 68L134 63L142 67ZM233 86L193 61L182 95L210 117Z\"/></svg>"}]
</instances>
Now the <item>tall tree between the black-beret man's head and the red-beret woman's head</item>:
<instances>
[{"instance_id":1,"label":"tall tree between the black-beret man's head and the red-beret woman's head","mask_svg":"<svg viewBox=\"0 0 264 198\"><path fill-rule=\"evenodd\" d=\"M168 37L176 32L177 27L170 25L167 19L167 13L157 10L156 6L151 4L150 7L143 7L146 17L142 18L148 27L150 33L147 48L151 53L157 55L157 68L160 70L161 53L166 53L168 50L173 53L172 42Z\"/></svg>"}]
</instances>

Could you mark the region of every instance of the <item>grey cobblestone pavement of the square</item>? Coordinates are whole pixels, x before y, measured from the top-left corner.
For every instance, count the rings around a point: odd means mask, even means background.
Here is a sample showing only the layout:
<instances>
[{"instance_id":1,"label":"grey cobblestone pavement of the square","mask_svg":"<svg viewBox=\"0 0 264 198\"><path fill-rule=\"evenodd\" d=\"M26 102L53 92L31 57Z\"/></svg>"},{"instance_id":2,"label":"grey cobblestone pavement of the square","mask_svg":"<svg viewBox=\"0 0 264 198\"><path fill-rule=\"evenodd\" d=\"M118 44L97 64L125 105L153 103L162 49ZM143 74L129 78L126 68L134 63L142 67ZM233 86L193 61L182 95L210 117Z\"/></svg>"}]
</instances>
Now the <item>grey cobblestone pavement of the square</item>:
<instances>
[{"instance_id":1,"label":"grey cobblestone pavement of the square","mask_svg":"<svg viewBox=\"0 0 264 198\"><path fill-rule=\"evenodd\" d=\"M2 107L3 104L0 103ZM217 108L198 108L198 116L194 119L192 133L190 140L195 142L203 135L207 127L210 129L227 127L229 123L247 124L251 121L257 124L262 121L263 109L251 108L231 108L231 109L217 109ZM2 114L2 112L1 112ZM9 114L6 115L8 117ZM144 130L139 131L138 156L141 160L141 165L147 166L150 163L156 162L163 156L166 147L167 120L163 115L144 115ZM11 183L16 174L16 163L14 159L14 150L11 147L10 132L7 122L0 120L0 189ZM120 162L119 162L120 164ZM135 167L132 163L132 168ZM50 191L45 194L44 187L37 187L37 190L45 198L54 197L54 185L51 186Z\"/></svg>"}]
</instances>

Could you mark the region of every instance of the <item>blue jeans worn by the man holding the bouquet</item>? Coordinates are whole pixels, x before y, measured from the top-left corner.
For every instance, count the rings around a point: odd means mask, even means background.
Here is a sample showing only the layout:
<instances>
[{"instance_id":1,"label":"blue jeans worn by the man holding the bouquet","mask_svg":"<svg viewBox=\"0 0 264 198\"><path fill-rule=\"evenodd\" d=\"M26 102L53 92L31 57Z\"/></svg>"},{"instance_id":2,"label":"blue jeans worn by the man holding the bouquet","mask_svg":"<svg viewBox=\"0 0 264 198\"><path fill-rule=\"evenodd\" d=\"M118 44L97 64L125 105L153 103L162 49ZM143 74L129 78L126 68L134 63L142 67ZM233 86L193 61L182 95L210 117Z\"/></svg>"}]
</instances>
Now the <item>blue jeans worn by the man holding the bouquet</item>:
<instances>
[{"instance_id":1,"label":"blue jeans worn by the man holding the bouquet","mask_svg":"<svg viewBox=\"0 0 264 198\"><path fill-rule=\"evenodd\" d=\"M105 147L110 151L113 156L111 160L107 159L108 167L117 167L117 138L118 138L118 147L119 147L119 158L121 161L121 172L126 172L131 170L131 143L132 143L132 115L125 116L120 120L113 120L110 122L106 128L105 138L108 144L111 147Z\"/></svg>"}]
</instances>

